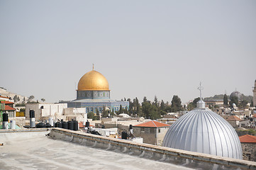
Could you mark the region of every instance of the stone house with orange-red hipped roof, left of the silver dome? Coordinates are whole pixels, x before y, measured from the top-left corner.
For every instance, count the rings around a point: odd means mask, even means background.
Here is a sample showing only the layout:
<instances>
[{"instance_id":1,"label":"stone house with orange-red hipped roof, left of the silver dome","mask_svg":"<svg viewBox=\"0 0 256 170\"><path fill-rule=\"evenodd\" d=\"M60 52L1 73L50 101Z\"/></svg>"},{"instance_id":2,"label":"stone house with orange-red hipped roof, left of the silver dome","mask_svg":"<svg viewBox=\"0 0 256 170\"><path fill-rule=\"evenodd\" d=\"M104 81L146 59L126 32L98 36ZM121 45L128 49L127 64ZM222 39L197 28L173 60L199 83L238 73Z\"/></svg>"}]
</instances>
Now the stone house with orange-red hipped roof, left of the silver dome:
<instances>
[{"instance_id":1,"label":"stone house with orange-red hipped roof, left of the silver dome","mask_svg":"<svg viewBox=\"0 0 256 170\"><path fill-rule=\"evenodd\" d=\"M142 137L144 143L162 145L169 126L168 124L152 120L133 126L133 135L135 137Z\"/></svg>"}]
</instances>

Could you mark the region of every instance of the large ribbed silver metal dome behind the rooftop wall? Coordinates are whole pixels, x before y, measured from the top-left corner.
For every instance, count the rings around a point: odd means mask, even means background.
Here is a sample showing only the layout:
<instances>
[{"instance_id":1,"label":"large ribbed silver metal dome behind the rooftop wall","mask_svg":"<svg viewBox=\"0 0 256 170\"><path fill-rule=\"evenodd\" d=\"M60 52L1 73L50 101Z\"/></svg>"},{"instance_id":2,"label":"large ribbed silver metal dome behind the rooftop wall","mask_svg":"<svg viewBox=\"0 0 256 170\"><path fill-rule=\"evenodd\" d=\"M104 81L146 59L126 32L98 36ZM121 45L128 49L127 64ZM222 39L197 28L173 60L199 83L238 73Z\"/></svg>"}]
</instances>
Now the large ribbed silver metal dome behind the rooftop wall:
<instances>
[{"instance_id":1,"label":"large ribbed silver metal dome behind the rooftop wall","mask_svg":"<svg viewBox=\"0 0 256 170\"><path fill-rule=\"evenodd\" d=\"M169 128L163 146L242 159L242 147L233 127L205 108L204 101L200 100L197 107Z\"/></svg>"}]
</instances>

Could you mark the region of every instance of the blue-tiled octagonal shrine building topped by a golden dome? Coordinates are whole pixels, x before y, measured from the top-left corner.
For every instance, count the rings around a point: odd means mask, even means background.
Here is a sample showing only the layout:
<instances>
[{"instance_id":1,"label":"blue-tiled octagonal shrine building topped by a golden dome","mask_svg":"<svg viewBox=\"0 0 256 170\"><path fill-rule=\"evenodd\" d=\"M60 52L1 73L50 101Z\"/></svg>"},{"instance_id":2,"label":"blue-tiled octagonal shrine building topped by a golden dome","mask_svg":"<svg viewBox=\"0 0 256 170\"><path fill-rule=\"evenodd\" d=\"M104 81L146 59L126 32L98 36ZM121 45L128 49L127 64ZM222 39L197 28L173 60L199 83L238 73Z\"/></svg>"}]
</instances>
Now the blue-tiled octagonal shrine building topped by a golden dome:
<instances>
[{"instance_id":1,"label":"blue-tiled octagonal shrine building topped by a golden dome","mask_svg":"<svg viewBox=\"0 0 256 170\"><path fill-rule=\"evenodd\" d=\"M96 113L97 110L101 113L104 107L114 112L119 111L120 106L123 109L129 109L128 101L111 100L107 79L101 73L96 72L94 67L79 80L77 99L61 103L67 103L68 108L86 108L87 113Z\"/></svg>"}]
</instances>

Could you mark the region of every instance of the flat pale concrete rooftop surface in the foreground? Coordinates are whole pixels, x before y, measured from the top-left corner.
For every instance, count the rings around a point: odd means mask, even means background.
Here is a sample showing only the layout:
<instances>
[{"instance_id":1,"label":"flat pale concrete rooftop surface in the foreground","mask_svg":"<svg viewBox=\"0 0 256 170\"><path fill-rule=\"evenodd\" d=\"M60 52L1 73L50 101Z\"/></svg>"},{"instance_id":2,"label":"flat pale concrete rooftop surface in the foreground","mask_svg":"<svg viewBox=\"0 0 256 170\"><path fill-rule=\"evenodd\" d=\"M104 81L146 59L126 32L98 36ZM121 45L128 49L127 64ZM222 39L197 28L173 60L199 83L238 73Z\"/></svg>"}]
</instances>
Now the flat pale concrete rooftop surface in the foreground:
<instances>
[{"instance_id":1,"label":"flat pale concrete rooftop surface in the foreground","mask_svg":"<svg viewBox=\"0 0 256 170\"><path fill-rule=\"evenodd\" d=\"M4 146L0 146L0 169L189 169L52 140L45 136L49 132L0 132L0 143L4 143Z\"/></svg>"}]
</instances>

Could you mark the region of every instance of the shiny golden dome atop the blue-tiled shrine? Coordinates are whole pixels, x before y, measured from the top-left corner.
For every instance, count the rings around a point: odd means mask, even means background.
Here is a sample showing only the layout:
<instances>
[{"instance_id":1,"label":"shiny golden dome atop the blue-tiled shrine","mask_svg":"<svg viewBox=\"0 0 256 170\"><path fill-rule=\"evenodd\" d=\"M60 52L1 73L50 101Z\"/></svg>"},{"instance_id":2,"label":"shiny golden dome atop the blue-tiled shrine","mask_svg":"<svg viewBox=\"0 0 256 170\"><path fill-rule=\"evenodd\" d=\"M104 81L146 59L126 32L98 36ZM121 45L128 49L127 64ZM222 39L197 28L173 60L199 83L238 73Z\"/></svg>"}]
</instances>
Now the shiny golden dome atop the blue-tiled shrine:
<instances>
[{"instance_id":1,"label":"shiny golden dome atop the blue-tiled shrine","mask_svg":"<svg viewBox=\"0 0 256 170\"><path fill-rule=\"evenodd\" d=\"M84 74L77 86L78 91L109 91L108 88L108 81L104 75L95 70Z\"/></svg>"}]
</instances>

